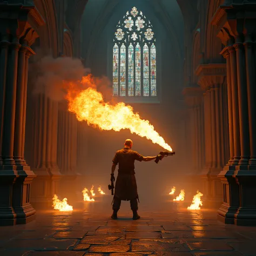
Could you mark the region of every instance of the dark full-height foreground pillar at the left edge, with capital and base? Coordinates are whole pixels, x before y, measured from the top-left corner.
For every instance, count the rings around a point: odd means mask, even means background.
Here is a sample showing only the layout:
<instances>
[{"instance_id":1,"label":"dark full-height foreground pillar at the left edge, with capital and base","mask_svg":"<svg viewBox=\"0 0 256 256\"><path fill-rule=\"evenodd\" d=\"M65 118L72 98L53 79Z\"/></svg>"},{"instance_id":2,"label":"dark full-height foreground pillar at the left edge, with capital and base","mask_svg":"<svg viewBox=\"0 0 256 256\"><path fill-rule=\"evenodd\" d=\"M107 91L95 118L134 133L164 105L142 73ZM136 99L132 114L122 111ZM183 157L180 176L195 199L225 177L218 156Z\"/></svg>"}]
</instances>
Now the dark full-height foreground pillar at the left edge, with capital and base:
<instances>
[{"instance_id":1,"label":"dark full-height foreground pillar at the left edge, with capital and base","mask_svg":"<svg viewBox=\"0 0 256 256\"><path fill-rule=\"evenodd\" d=\"M36 176L24 159L24 117L28 58L35 53L30 45L38 37L35 29L44 21L31 4L4 2L0 9L1 17L13 14L12 19L0 18L0 225L15 225L33 220L36 212L30 204Z\"/></svg>"}]
</instances>

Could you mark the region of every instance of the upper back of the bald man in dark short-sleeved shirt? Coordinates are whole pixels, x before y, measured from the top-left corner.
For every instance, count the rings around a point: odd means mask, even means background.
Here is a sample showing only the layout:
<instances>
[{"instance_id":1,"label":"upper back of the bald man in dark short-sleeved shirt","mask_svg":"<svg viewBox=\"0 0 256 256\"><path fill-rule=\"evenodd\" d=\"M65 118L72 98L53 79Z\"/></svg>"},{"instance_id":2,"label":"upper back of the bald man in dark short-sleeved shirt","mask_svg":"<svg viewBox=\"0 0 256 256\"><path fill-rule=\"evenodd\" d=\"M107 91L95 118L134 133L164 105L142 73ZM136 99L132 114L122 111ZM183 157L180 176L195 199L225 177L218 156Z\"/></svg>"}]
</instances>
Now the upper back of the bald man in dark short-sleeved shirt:
<instances>
[{"instance_id":1,"label":"upper back of the bald man in dark short-sleeved shirt","mask_svg":"<svg viewBox=\"0 0 256 256\"><path fill-rule=\"evenodd\" d=\"M118 164L118 173L120 174L134 174L134 161L142 161L143 156L136 151L124 147L118 150L113 158L113 163Z\"/></svg>"}]
</instances>

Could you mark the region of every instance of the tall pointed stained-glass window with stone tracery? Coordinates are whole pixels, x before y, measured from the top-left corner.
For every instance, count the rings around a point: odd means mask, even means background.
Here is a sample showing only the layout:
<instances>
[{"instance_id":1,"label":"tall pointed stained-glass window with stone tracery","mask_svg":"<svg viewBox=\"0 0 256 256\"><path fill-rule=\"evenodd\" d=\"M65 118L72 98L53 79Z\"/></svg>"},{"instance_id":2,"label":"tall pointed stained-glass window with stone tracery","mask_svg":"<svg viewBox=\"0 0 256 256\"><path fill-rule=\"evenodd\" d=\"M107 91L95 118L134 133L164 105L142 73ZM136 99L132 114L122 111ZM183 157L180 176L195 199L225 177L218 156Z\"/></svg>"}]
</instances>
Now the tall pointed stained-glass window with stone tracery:
<instances>
[{"instance_id":1,"label":"tall pointed stained-glass window with stone tracery","mask_svg":"<svg viewBox=\"0 0 256 256\"><path fill-rule=\"evenodd\" d=\"M113 39L113 96L157 96L157 49L153 26L133 7Z\"/></svg>"}]
</instances>

